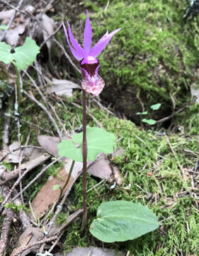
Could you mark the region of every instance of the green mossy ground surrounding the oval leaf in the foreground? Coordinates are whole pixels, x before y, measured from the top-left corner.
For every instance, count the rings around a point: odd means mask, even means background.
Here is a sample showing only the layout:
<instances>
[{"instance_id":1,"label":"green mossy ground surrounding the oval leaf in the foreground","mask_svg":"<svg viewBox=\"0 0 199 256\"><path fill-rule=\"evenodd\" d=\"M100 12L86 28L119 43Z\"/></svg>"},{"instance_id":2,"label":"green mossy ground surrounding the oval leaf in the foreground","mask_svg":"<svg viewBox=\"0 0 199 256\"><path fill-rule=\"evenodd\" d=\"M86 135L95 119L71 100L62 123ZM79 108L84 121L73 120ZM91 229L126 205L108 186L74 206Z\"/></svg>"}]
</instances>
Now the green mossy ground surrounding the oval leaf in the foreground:
<instances>
[{"instance_id":1,"label":"green mossy ground surrounding the oval leaf in the foreground","mask_svg":"<svg viewBox=\"0 0 199 256\"><path fill-rule=\"evenodd\" d=\"M82 122L82 113L79 108L74 107L72 102L79 103L79 92L74 93L73 99L65 101L67 111L57 100L55 108L57 114L66 124L66 128L79 127ZM50 100L50 99L49 99ZM26 106L26 107L25 107ZM197 105L193 108L197 108ZM90 108L93 117L103 124L109 132L113 132L118 138L123 138L118 146L125 150L122 156L113 159L121 171L123 177L122 186L116 186L110 191L110 185L103 183L96 190L91 189L88 196L89 218L86 233L82 235L79 231L80 220L66 230L64 239L64 250L70 250L74 246L104 246L116 250L122 250L130 255L199 255L199 214L198 214L198 191L193 184L198 185L197 166L198 161L198 137L191 133L180 132L178 134L167 134L166 130L147 129L136 127L131 121L118 119L100 110L94 103ZM31 113L31 116L30 116ZM23 98L22 119L34 122L37 115L37 123L40 127L49 129L55 133L52 124L44 112ZM45 122L44 122L45 121ZM88 116L88 124L96 126L96 123ZM194 123L195 124L195 123ZM12 123L12 126L14 123ZM196 128L195 128L196 129ZM31 128L27 124L21 127L23 143L30 132L30 144L38 144L37 135L44 134L39 129ZM16 140L16 129L11 132L11 141ZM171 145L169 145L168 141ZM174 148L176 155L171 150ZM183 180L181 169L186 173L187 180ZM47 172L47 176L56 174L59 164ZM38 169L39 171L39 169ZM28 176L31 180L38 171ZM193 172L191 172L193 171ZM195 171L195 172L194 172ZM88 175L88 189L93 188L99 181ZM25 182L28 182L27 180ZM194 183L193 183L194 182ZM25 193L25 198L33 198L43 180L35 183ZM196 198L195 198L196 196ZM81 178L75 183L69 200L72 199L71 210L82 207ZM140 202L151 208L159 217L161 226L159 230L142 236L133 241L115 242L103 244L93 239L89 233L89 225L96 216L96 209L101 202L110 200L127 200ZM28 201L27 201L28 202ZM60 221L62 220L60 216ZM76 242L78 241L78 243Z\"/></svg>"}]
</instances>

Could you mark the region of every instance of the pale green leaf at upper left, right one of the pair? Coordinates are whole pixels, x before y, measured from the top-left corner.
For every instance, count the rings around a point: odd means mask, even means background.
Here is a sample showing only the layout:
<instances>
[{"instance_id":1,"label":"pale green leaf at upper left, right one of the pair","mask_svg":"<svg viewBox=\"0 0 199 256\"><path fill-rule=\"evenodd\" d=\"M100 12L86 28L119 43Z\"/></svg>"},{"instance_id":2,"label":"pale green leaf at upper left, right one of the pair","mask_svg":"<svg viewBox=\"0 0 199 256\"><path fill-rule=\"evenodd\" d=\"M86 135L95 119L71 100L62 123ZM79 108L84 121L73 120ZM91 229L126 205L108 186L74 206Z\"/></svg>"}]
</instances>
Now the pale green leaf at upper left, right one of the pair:
<instances>
[{"instance_id":1,"label":"pale green leaf at upper left, right one of the pair","mask_svg":"<svg viewBox=\"0 0 199 256\"><path fill-rule=\"evenodd\" d=\"M25 70L28 65L33 64L39 52L40 48L36 45L35 41L31 38L26 38L23 46L16 47L15 53L12 54L13 65L16 65L21 70Z\"/></svg>"}]
</instances>

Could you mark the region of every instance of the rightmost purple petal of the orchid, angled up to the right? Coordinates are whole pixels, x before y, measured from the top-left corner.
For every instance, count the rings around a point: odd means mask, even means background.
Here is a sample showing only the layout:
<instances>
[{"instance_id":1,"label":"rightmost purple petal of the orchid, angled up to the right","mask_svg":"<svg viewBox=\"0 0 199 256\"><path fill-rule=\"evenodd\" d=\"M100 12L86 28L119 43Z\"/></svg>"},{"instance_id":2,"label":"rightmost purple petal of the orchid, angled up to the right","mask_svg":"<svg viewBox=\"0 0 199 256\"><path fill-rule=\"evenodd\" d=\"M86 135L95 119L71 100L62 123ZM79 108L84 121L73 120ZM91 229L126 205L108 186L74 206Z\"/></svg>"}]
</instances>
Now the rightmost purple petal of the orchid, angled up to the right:
<instances>
[{"instance_id":1,"label":"rightmost purple petal of the orchid, angled up to the right","mask_svg":"<svg viewBox=\"0 0 199 256\"><path fill-rule=\"evenodd\" d=\"M108 34L106 32L106 34L103 35L103 37L98 41L98 43L96 43L96 45L93 46L93 48L91 49L90 55L92 55L93 57L96 57L97 55L99 55L101 53L101 51L109 43L110 39L113 38L115 33L118 33L118 31L120 31L120 29L121 28L115 29L115 31L112 31L110 34Z\"/></svg>"}]
</instances>

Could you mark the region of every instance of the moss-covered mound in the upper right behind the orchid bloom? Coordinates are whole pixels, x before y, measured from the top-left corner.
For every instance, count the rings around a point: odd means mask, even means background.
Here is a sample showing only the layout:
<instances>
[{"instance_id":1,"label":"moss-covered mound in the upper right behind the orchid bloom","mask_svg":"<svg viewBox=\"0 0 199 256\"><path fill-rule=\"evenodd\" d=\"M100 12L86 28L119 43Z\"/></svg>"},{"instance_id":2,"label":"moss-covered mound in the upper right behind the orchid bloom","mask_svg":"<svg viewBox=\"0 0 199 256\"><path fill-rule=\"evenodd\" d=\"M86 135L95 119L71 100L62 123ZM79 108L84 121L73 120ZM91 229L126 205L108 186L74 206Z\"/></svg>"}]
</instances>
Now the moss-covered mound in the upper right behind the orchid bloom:
<instances>
[{"instance_id":1,"label":"moss-covered mound in the upper right behind the orchid bloom","mask_svg":"<svg viewBox=\"0 0 199 256\"><path fill-rule=\"evenodd\" d=\"M161 117L186 102L189 86L198 80L198 19L184 23L186 1L85 1L91 4L94 41L108 31L122 28L99 56L101 76L106 82L103 99L131 119L157 102ZM93 8L96 6L96 8ZM84 18L86 16L84 15ZM114 83L113 83L114 81Z\"/></svg>"}]
</instances>

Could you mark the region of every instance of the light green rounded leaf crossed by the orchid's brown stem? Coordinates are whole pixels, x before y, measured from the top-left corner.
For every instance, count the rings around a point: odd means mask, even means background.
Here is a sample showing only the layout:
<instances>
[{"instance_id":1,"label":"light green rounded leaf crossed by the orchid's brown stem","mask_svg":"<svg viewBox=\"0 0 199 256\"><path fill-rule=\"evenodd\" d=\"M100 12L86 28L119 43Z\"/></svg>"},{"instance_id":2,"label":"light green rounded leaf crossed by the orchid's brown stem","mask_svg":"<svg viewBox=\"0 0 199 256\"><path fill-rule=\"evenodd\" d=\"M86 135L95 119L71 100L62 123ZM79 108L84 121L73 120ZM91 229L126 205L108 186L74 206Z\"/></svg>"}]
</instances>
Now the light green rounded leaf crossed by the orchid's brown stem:
<instances>
[{"instance_id":1,"label":"light green rounded leaf crossed by the orchid's brown stem","mask_svg":"<svg viewBox=\"0 0 199 256\"><path fill-rule=\"evenodd\" d=\"M77 148L75 144L81 146L83 132L75 134L72 141L65 140L58 144L59 156L65 156L75 161L82 161L81 147ZM113 152L116 137L110 132L98 127L86 127L86 140L88 147L87 159L94 161L99 153L110 154Z\"/></svg>"}]
</instances>

